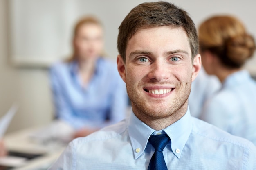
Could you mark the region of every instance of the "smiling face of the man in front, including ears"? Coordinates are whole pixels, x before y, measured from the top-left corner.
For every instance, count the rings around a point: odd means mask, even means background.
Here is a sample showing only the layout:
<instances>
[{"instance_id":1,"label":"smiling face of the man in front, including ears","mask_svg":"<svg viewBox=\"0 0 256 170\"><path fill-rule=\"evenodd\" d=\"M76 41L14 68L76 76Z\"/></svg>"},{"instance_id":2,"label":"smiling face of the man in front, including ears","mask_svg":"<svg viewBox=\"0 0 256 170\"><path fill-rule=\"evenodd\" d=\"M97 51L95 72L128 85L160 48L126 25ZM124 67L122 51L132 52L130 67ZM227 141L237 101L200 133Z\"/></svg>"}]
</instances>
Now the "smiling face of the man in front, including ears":
<instances>
[{"instance_id":1,"label":"smiling face of the man in front, including ears","mask_svg":"<svg viewBox=\"0 0 256 170\"><path fill-rule=\"evenodd\" d=\"M181 28L141 29L128 41L126 63L117 59L135 115L158 119L187 109L191 81L200 55L191 61L188 37Z\"/></svg>"}]
</instances>

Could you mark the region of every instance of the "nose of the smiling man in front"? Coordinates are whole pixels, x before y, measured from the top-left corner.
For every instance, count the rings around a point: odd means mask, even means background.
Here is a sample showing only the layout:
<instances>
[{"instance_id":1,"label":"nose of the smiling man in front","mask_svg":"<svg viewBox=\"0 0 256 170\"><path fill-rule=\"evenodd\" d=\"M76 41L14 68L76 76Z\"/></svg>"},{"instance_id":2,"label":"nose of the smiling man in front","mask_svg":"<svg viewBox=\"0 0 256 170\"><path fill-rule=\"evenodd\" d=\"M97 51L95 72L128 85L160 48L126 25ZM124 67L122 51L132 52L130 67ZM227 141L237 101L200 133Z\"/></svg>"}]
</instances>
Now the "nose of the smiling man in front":
<instances>
[{"instance_id":1,"label":"nose of the smiling man in front","mask_svg":"<svg viewBox=\"0 0 256 170\"><path fill-rule=\"evenodd\" d=\"M155 81L162 81L170 77L170 68L168 63L164 61L155 61L151 65L150 72L148 73L148 78Z\"/></svg>"}]
</instances>

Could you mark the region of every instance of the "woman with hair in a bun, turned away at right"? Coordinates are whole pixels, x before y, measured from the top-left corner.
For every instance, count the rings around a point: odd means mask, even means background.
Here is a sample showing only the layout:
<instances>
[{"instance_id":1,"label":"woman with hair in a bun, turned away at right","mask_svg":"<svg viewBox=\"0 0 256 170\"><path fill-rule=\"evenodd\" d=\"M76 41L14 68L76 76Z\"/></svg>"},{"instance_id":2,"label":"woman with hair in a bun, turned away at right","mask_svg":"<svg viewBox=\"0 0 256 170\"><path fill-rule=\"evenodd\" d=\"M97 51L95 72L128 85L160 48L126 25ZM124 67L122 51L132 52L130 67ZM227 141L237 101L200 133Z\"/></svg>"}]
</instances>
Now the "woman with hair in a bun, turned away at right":
<instances>
[{"instance_id":1,"label":"woman with hair in a bun, turned away at right","mask_svg":"<svg viewBox=\"0 0 256 170\"><path fill-rule=\"evenodd\" d=\"M201 119L256 144L256 81L243 69L255 42L232 16L214 16L199 27L202 65L222 83L204 105Z\"/></svg>"}]
</instances>

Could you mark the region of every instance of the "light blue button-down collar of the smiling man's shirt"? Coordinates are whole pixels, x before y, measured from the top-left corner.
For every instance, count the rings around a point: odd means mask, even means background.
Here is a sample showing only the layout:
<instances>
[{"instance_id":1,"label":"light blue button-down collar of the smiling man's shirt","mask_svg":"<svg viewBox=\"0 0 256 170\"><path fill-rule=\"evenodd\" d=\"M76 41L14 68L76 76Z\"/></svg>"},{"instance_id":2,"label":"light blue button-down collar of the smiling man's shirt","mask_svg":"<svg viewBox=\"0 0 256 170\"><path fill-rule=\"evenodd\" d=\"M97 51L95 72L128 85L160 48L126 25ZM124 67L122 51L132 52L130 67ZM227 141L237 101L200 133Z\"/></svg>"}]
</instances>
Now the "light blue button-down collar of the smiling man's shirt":
<instances>
[{"instance_id":1,"label":"light blue button-down collar of the smiling man's shirt","mask_svg":"<svg viewBox=\"0 0 256 170\"><path fill-rule=\"evenodd\" d=\"M171 139L171 150L177 158L180 158L191 130L192 122L189 107L186 114L180 120L163 129ZM128 133L135 159L144 153L148 139L154 132L154 129L141 122L133 112L131 113L130 119L128 120Z\"/></svg>"}]
</instances>

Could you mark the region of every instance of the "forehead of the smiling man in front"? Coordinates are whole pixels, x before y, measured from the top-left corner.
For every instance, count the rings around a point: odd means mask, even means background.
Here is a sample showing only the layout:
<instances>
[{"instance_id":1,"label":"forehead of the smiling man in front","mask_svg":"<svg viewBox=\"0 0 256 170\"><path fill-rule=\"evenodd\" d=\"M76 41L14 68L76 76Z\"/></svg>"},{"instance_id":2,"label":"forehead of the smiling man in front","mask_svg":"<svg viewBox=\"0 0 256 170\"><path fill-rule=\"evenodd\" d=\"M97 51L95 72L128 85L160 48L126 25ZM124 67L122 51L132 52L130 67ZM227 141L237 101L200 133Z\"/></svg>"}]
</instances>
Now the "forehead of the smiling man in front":
<instances>
[{"instance_id":1,"label":"forehead of the smiling man in front","mask_svg":"<svg viewBox=\"0 0 256 170\"><path fill-rule=\"evenodd\" d=\"M126 57L135 50L152 53L185 50L191 56L191 48L186 32L183 28L173 28L172 26L140 29L127 43Z\"/></svg>"}]
</instances>

